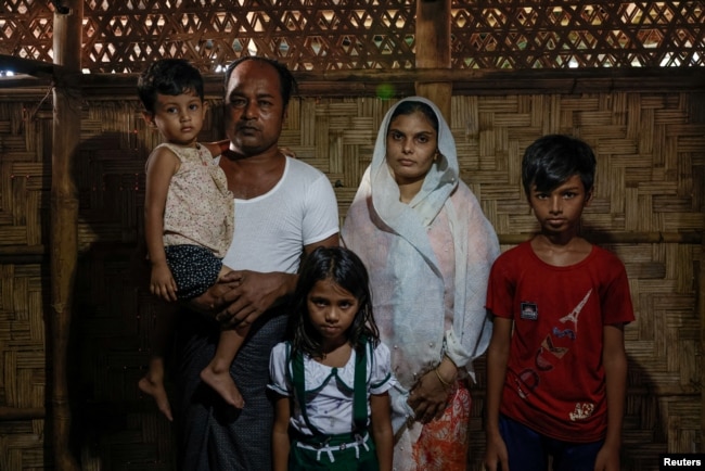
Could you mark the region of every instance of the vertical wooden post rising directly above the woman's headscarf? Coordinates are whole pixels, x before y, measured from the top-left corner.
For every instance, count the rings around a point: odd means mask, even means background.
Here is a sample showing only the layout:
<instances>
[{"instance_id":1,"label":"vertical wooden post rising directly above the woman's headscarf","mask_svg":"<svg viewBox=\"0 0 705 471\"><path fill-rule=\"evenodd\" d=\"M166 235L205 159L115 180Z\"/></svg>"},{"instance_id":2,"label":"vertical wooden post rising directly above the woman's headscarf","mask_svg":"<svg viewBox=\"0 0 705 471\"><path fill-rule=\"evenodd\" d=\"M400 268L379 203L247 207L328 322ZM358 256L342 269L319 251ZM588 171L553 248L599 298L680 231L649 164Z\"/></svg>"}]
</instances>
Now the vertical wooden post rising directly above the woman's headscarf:
<instances>
[{"instance_id":1,"label":"vertical wooden post rising directly above the woman's headscarf","mask_svg":"<svg viewBox=\"0 0 705 471\"><path fill-rule=\"evenodd\" d=\"M416 0L416 68L450 69L450 0ZM450 123L452 82L416 82L415 88Z\"/></svg>"}]
</instances>

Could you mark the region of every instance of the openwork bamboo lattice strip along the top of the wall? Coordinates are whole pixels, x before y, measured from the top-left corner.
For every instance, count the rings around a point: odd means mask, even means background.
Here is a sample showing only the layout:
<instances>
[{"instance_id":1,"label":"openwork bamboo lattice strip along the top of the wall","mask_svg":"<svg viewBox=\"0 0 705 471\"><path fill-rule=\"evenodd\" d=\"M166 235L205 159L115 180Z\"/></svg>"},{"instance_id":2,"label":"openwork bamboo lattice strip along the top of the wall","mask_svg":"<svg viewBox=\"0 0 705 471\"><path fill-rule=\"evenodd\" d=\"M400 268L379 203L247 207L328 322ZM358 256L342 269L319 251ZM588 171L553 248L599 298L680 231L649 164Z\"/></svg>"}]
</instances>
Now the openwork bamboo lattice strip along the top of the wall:
<instances>
[{"instance_id":1,"label":"openwork bamboo lattice strip along the top of the wall","mask_svg":"<svg viewBox=\"0 0 705 471\"><path fill-rule=\"evenodd\" d=\"M4 0L0 52L52 62L49 1ZM82 65L140 72L184 58L217 72L248 54L294 71L413 68L415 0L86 0ZM705 65L701 1L453 0L452 67Z\"/></svg>"}]
</instances>

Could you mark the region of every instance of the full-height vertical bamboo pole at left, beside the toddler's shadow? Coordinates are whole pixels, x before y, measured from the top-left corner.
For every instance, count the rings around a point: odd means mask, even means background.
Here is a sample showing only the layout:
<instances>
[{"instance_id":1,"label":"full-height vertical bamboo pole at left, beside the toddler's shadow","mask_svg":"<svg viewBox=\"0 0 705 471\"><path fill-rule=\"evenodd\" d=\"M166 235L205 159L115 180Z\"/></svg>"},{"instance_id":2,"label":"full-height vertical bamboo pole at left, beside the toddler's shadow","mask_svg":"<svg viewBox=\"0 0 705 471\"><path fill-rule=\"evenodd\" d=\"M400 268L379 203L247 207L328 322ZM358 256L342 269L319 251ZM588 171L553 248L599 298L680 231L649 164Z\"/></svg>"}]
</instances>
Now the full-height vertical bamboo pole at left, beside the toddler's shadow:
<instances>
[{"instance_id":1,"label":"full-height vertical bamboo pole at left, beside the toddler's shadow","mask_svg":"<svg viewBox=\"0 0 705 471\"><path fill-rule=\"evenodd\" d=\"M69 447L70 404L67 355L78 258L78 196L73 174L80 137L81 28L84 0L57 2L54 12L53 141L51 171L51 421L55 469L78 470ZM64 11L66 10L66 11Z\"/></svg>"}]
</instances>

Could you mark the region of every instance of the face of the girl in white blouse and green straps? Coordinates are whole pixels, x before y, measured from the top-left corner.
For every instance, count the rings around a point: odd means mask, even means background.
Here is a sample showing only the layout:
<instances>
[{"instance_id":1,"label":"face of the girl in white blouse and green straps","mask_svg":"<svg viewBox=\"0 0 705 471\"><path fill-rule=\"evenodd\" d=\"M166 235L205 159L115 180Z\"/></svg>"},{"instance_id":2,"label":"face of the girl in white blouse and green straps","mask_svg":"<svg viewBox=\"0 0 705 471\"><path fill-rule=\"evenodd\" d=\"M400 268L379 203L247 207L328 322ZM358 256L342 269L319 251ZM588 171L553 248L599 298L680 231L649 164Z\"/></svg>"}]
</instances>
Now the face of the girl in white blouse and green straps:
<instances>
[{"instance_id":1,"label":"face of the girl in white blouse and green straps","mask_svg":"<svg viewBox=\"0 0 705 471\"><path fill-rule=\"evenodd\" d=\"M352 293L331 279L319 280L308 293L306 304L308 318L321 335L324 351L347 342L347 331L360 307Z\"/></svg>"}]
</instances>

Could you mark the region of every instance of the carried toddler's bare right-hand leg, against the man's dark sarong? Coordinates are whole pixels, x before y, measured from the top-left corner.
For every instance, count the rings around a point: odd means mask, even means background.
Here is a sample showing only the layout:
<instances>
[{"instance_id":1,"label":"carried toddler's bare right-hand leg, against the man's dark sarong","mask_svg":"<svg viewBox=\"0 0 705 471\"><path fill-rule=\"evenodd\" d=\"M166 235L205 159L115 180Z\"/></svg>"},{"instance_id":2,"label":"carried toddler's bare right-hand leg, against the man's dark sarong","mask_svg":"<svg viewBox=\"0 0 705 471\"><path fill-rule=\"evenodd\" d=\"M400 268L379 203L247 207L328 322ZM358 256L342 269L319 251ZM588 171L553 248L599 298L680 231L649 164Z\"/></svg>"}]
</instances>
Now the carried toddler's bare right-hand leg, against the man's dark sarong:
<instances>
[{"instance_id":1,"label":"carried toddler's bare right-hand leg, against the man's dark sarong","mask_svg":"<svg viewBox=\"0 0 705 471\"><path fill-rule=\"evenodd\" d=\"M230 375L230 365L235 358L249 327L223 330L218 339L216 354L207 367L201 371L201 379L223 398L227 404L242 409L245 400Z\"/></svg>"}]
</instances>

